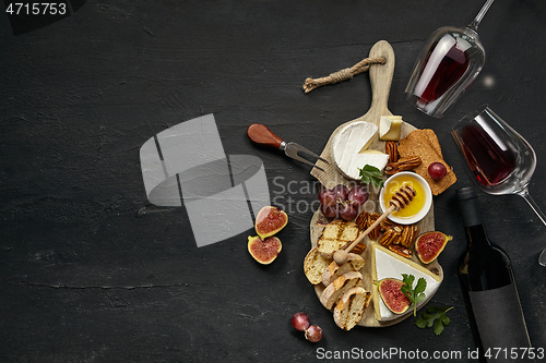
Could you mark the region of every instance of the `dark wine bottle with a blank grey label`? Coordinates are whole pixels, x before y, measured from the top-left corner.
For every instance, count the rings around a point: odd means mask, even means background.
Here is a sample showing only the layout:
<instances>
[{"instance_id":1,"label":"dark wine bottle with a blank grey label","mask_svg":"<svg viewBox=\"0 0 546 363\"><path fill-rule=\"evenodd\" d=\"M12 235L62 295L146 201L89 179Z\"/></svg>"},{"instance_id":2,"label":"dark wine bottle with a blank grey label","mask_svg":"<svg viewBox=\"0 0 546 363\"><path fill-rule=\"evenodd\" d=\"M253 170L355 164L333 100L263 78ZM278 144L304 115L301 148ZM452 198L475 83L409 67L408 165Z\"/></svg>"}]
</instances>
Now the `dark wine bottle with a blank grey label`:
<instances>
[{"instance_id":1,"label":"dark wine bottle with a blank grey label","mask_svg":"<svg viewBox=\"0 0 546 363\"><path fill-rule=\"evenodd\" d=\"M479 355L491 362L533 359L510 258L489 242L475 189L455 193L468 244L459 275Z\"/></svg>"}]
</instances>

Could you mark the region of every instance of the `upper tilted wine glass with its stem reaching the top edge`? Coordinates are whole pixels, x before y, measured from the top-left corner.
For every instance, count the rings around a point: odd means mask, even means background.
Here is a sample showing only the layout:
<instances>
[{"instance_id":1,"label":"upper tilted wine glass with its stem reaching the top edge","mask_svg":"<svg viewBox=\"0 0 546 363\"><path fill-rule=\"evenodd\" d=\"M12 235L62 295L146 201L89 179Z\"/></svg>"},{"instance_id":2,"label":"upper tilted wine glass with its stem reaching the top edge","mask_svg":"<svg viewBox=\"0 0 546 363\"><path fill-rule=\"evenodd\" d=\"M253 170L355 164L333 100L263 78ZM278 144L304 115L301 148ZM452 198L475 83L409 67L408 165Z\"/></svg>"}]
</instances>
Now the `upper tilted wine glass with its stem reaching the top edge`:
<instances>
[{"instance_id":1,"label":"upper tilted wine glass with its stem reaching the top edge","mask_svg":"<svg viewBox=\"0 0 546 363\"><path fill-rule=\"evenodd\" d=\"M492 1L465 28L444 26L430 35L405 89L410 104L441 118L470 87L485 63L477 27Z\"/></svg>"}]
</instances>

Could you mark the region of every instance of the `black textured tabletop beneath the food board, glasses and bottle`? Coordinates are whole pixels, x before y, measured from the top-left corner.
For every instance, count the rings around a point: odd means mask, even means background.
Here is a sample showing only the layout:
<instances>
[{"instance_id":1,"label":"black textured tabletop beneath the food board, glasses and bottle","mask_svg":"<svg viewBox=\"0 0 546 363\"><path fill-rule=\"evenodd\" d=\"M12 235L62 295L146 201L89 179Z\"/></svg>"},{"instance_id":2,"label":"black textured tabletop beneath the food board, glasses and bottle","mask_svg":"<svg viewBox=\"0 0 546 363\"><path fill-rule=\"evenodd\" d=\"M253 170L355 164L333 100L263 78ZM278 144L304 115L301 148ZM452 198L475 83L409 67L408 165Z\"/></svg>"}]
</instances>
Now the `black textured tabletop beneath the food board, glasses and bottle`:
<instances>
[{"instance_id":1,"label":"black textured tabletop beneath the food board, glasses and bottle","mask_svg":"<svg viewBox=\"0 0 546 363\"><path fill-rule=\"evenodd\" d=\"M449 131L488 104L535 147L530 191L546 209L546 2L492 4L479 26L486 65L446 118L412 108L404 88L428 35L470 23L482 2L86 1L17 36L0 15L0 361L308 362L321 349L391 348L429 358L366 361L440 361L435 351L472 361L454 197L471 180ZM353 65L381 39L396 55L390 110L434 129L459 177L435 198L437 229L454 235L431 301L455 306L439 337L413 317L389 328L335 326L302 273L317 182L307 166L246 136L260 122L320 153L339 124L368 110L369 76L308 95L304 80ZM206 113L226 154L263 160L271 197L289 215L270 266L247 252L252 230L198 249L183 207L146 199L141 145ZM490 239L512 259L531 341L546 348L546 269L537 264L546 227L519 196L479 198ZM319 343L292 328L298 311L322 327Z\"/></svg>"}]
</instances>

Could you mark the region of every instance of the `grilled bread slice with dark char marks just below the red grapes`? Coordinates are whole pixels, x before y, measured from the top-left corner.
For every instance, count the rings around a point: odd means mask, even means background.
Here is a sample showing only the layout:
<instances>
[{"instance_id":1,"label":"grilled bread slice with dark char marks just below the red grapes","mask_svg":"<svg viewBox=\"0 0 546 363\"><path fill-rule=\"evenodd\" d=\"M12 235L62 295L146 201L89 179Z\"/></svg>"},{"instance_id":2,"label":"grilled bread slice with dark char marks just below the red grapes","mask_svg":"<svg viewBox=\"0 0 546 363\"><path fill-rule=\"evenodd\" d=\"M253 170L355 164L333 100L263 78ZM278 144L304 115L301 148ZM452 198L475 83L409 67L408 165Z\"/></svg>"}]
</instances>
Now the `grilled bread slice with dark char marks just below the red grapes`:
<instances>
[{"instance_id":1,"label":"grilled bread slice with dark char marks just below the red grapes","mask_svg":"<svg viewBox=\"0 0 546 363\"><path fill-rule=\"evenodd\" d=\"M355 222L336 219L322 231L317 241L317 250L327 258L332 258L333 253L344 249L360 235L361 229Z\"/></svg>"}]
</instances>

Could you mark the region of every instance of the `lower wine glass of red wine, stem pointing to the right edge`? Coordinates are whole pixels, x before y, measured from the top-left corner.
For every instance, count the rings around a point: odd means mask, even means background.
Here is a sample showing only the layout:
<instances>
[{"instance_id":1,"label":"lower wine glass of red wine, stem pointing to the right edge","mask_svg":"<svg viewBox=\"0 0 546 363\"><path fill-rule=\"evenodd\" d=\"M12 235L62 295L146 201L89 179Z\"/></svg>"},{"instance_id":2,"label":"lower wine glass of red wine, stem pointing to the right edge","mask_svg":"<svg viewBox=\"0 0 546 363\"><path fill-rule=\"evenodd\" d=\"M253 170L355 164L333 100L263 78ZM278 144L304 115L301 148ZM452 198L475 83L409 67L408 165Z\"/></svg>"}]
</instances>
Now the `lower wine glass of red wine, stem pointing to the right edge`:
<instances>
[{"instance_id":1,"label":"lower wine glass of red wine, stem pointing to the right edge","mask_svg":"<svg viewBox=\"0 0 546 363\"><path fill-rule=\"evenodd\" d=\"M486 106L459 121L451 135L466 160L466 170L484 192L520 195L546 226L546 216L527 191L536 154L518 132ZM546 266L546 249L538 263Z\"/></svg>"}]
</instances>

